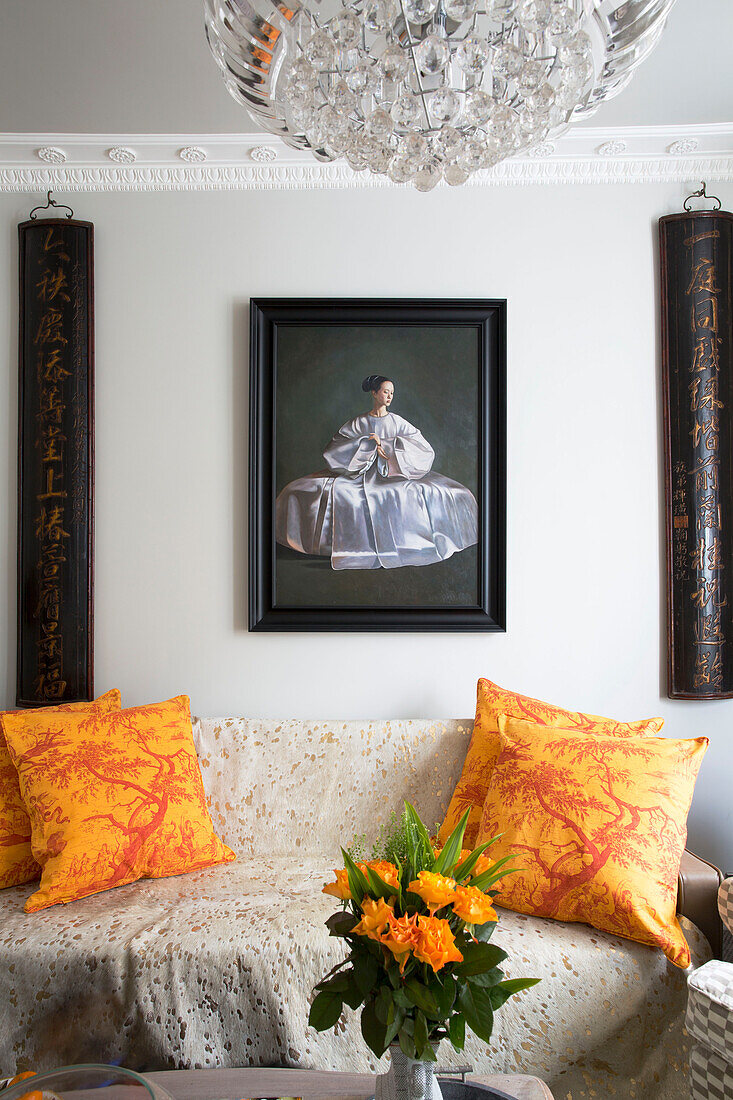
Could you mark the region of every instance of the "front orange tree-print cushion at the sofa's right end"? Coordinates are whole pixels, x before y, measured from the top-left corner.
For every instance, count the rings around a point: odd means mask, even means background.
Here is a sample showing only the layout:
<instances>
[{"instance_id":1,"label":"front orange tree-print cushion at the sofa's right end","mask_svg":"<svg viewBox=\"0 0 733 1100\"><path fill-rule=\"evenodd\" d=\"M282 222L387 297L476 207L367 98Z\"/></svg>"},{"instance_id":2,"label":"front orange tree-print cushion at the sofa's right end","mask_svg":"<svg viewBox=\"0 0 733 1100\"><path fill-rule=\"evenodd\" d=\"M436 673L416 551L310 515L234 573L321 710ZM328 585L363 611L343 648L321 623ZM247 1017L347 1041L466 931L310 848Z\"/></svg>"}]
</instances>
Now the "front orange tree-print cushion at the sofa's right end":
<instances>
[{"instance_id":1,"label":"front orange tree-print cushion at the sofa's right end","mask_svg":"<svg viewBox=\"0 0 733 1100\"><path fill-rule=\"evenodd\" d=\"M479 843L516 854L496 903L582 921L686 967L675 915L687 814L708 738L599 737L500 718Z\"/></svg>"}]
</instances>

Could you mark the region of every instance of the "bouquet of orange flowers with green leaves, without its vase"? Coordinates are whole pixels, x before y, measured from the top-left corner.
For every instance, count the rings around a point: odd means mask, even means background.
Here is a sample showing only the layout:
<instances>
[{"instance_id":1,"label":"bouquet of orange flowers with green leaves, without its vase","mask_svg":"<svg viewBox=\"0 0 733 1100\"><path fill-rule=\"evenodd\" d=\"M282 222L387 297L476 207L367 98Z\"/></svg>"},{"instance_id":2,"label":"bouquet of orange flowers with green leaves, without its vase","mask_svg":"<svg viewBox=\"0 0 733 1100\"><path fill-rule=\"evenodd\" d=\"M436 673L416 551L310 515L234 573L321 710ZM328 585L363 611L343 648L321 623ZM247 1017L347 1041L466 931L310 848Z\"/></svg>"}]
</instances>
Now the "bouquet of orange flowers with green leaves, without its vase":
<instances>
[{"instance_id":1,"label":"bouquet of orange flowers with green leaves, without its vase","mask_svg":"<svg viewBox=\"0 0 733 1100\"><path fill-rule=\"evenodd\" d=\"M491 887L510 873L512 857L493 862L462 848L468 813L442 849L408 803L402 845L387 844L372 860L342 850L344 867L324 887L343 902L326 922L348 954L316 986L309 1023L333 1027L343 1005L362 1008L361 1033L378 1057L398 1043L411 1059L435 1062L448 1038L463 1048L466 1027L491 1040L494 1012L537 978L505 979L506 952L489 941L499 917Z\"/></svg>"}]
</instances>

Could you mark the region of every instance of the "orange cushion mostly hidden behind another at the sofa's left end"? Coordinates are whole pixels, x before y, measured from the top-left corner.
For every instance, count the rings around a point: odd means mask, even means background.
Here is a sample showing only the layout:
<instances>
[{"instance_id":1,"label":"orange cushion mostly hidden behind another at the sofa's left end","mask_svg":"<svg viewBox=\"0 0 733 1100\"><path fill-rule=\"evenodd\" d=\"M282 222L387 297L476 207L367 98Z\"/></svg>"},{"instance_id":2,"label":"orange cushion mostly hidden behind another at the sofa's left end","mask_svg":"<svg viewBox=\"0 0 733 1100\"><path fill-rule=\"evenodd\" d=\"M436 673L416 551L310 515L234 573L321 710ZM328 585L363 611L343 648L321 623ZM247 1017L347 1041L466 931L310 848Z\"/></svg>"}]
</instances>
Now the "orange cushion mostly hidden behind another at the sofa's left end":
<instances>
[{"instance_id":1,"label":"orange cushion mostly hidden behind another at the sofa's left end","mask_svg":"<svg viewBox=\"0 0 733 1100\"><path fill-rule=\"evenodd\" d=\"M48 716L75 711L86 713L94 708L107 714L109 711L119 711L121 704L119 691L108 691L90 703L63 703L59 706L43 706L20 713ZM21 798L18 772L2 732L2 719L13 713L15 712L0 713L0 890L32 882L41 875L41 868L31 851L31 823Z\"/></svg>"}]
</instances>

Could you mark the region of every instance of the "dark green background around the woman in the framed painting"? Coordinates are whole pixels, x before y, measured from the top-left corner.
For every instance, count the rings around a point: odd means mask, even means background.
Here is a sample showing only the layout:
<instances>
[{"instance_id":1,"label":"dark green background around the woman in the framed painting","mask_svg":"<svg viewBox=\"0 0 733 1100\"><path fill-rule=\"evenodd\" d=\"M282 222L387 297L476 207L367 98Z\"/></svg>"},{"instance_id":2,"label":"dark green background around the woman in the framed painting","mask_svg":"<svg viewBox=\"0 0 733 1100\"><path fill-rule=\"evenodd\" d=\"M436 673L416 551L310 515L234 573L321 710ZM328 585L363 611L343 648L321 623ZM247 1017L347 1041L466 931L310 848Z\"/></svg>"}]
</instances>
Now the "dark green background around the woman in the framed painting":
<instances>
[{"instance_id":1,"label":"dark green background around the woman in the framed painting","mask_svg":"<svg viewBox=\"0 0 733 1100\"><path fill-rule=\"evenodd\" d=\"M394 382L391 411L435 449L433 470L478 492L479 330L464 326L277 326L275 492L324 470L341 425L371 409L368 374ZM276 548L275 606L473 606L478 548L433 565L333 570Z\"/></svg>"}]
</instances>

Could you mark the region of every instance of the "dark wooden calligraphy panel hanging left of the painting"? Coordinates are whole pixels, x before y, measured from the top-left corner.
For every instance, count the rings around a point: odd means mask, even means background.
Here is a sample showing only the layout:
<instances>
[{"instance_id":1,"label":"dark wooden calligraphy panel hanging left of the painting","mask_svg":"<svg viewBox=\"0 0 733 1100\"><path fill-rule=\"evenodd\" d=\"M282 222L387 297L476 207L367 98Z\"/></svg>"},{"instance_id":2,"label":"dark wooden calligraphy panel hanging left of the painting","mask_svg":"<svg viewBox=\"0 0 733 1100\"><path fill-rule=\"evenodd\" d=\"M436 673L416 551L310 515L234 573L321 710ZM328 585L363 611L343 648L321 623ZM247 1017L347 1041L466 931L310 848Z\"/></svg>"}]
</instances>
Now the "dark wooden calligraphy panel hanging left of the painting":
<instances>
[{"instance_id":1,"label":"dark wooden calligraphy panel hanging left of the painting","mask_svg":"<svg viewBox=\"0 0 733 1100\"><path fill-rule=\"evenodd\" d=\"M20 237L18 706L91 698L94 227Z\"/></svg>"}]
</instances>

